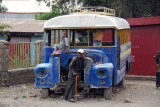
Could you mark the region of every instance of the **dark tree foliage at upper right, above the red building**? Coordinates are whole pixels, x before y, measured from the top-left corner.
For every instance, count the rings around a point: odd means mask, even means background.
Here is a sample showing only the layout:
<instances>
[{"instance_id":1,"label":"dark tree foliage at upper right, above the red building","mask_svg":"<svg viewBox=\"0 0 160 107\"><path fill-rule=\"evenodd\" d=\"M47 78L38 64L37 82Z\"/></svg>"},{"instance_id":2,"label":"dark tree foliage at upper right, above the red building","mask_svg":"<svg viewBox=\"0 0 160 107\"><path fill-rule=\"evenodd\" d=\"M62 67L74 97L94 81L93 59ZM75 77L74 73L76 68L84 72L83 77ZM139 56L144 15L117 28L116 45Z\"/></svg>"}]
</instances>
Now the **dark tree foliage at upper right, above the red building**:
<instances>
[{"instance_id":1,"label":"dark tree foliage at upper right, above the red building","mask_svg":"<svg viewBox=\"0 0 160 107\"><path fill-rule=\"evenodd\" d=\"M83 3L112 8L122 18L160 16L160 0L83 0Z\"/></svg>"}]
</instances>

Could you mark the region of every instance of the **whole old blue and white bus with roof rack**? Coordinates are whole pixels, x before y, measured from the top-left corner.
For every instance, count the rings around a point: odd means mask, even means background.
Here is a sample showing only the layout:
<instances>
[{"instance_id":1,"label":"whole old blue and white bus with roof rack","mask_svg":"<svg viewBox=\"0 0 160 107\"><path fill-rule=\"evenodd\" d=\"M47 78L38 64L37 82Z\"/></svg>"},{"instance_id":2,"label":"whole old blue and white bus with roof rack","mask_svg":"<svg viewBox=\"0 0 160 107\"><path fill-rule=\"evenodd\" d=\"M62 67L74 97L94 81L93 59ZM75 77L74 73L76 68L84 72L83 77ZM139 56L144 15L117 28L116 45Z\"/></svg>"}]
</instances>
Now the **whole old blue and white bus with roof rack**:
<instances>
[{"instance_id":1,"label":"whole old blue and white bus with roof rack","mask_svg":"<svg viewBox=\"0 0 160 107\"><path fill-rule=\"evenodd\" d=\"M83 7L45 23L44 63L35 67L35 85L42 88L42 97L47 97L51 88L59 92L65 87L68 65L77 50L84 49L87 65L78 87L87 92L102 89L104 98L112 99L112 86L123 85L131 68L130 27L126 20L114 14L114 10L104 7ZM64 29L70 50L51 56L53 45L60 42ZM98 43L96 35L101 36Z\"/></svg>"}]
</instances>

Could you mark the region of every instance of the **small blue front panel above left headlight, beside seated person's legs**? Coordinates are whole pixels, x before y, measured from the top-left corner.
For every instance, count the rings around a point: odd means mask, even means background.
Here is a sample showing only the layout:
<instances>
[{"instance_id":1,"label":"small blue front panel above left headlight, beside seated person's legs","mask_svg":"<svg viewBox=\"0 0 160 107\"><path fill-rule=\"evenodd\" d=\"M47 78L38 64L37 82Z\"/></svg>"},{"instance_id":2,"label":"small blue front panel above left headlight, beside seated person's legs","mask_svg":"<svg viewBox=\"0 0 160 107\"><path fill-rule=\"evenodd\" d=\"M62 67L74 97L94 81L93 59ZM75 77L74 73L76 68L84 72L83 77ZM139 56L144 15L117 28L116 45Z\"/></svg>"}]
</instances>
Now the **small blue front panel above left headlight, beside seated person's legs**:
<instances>
[{"instance_id":1,"label":"small blue front panel above left headlight, beside seated person's legs","mask_svg":"<svg viewBox=\"0 0 160 107\"><path fill-rule=\"evenodd\" d=\"M44 47L44 63L49 63L51 53L53 53L52 47Z\"/></svg>"}]
</instances>

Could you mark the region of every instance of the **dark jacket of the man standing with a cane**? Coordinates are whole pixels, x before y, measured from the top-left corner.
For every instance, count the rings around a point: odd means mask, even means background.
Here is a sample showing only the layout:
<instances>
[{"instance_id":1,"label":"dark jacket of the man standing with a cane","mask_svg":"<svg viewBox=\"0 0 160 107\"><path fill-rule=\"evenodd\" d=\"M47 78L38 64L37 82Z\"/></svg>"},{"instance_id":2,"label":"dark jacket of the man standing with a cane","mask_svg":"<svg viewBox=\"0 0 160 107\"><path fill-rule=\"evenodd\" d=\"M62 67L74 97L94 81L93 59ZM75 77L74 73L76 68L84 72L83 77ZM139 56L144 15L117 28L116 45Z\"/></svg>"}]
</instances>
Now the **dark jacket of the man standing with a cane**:
<instances>
[{"instance_id":1,"label":"dark jacket of the man standing with a cane","mask_svg":"<svg viewBox=\"0 0 160 107\"><path fill-rule=\"evenodd\" d=\"M78 77L81 77L81 72L84 71L86 63L84 63L84 59L80 56L73 57L71 63L69 64L69 78L75 78L74 73L78 74Z\"/></svg>"}]
</instances>

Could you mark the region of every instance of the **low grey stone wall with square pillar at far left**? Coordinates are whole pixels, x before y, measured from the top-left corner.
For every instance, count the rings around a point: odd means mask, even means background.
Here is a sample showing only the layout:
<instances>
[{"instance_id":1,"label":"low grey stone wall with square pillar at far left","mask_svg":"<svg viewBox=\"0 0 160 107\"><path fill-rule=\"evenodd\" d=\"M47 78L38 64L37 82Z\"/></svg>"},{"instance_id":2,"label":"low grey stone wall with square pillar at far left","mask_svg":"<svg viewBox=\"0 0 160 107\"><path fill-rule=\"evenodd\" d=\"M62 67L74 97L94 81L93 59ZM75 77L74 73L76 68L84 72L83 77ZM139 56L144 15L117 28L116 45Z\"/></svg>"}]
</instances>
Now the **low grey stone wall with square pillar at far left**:
<instances>
[{"instance_id":1,"label":"low grey stone wall with square pillar at far left","mask_svg":"<svg viewBox=\"0 0 160 107\"><path fill-rule=\"evenodd\" d=\"M34 67L8 70L9 43L0 40L0 87L33 83Z\"/></svg>"}]
</instances>

